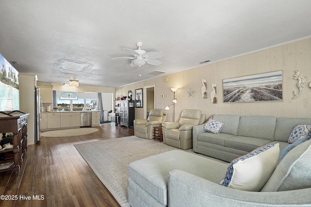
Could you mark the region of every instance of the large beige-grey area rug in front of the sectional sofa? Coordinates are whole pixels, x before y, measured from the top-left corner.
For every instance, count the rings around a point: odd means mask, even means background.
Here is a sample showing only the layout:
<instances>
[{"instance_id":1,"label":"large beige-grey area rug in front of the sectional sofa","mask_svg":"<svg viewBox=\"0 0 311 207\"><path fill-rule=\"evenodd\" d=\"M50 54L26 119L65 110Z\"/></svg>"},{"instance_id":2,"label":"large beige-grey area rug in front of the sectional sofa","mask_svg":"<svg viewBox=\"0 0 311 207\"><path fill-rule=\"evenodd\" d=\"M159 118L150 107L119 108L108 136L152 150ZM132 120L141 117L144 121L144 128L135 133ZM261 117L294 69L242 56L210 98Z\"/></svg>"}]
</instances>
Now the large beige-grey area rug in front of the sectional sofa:
<instances>
[{"instance_id":1,"label":"large beige-grey area rug in front of the sectional sofa","mask_svg":"<svg viewBox=\"0 0 311 207\"><path fill-rule=\"evenodd\" d=\"M177 149L159 141L136 136L80 143L74 146L121 207L130 207L127 200L128 164L138 159ZM184 151L194 154L192 149Z\"/></svg>"}]
</instances>

